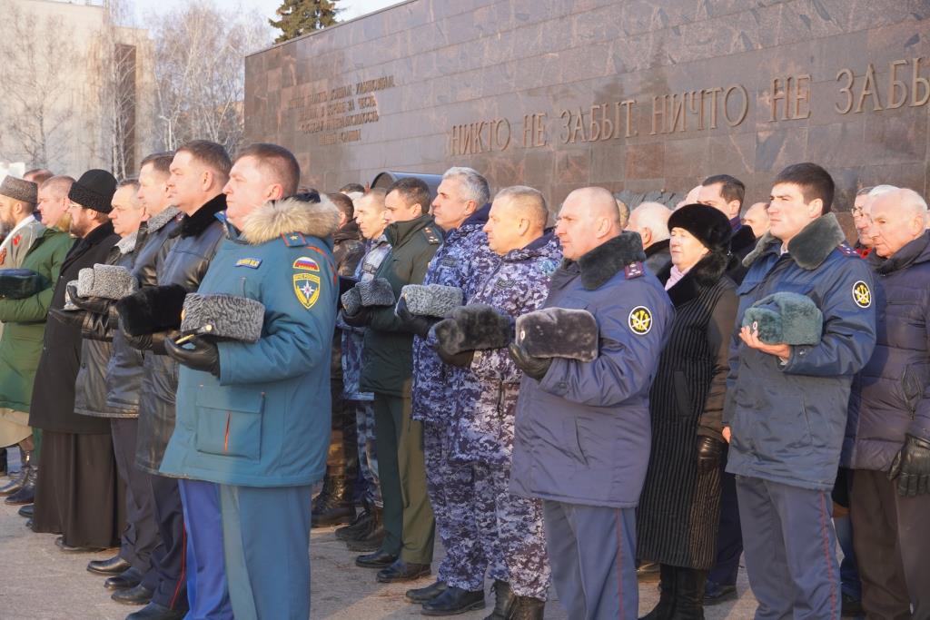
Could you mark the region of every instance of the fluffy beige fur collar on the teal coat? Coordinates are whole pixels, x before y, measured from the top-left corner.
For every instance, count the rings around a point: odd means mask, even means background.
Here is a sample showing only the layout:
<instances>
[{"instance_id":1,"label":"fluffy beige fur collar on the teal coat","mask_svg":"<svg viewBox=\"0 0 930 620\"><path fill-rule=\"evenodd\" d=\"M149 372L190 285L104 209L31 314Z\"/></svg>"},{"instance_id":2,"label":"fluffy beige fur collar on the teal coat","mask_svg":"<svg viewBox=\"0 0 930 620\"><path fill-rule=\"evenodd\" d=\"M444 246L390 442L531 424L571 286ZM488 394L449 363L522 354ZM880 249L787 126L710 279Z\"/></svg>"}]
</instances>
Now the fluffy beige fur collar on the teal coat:
<instances>
[{"instance_id":1,"label":"fluffy beige fur collar on the teal coat","mask_svg":"<svg viewBox=\"0 0 930 620\"><path fill-rule=\"evenodd\" d=\"M339 209L328 199L311 203L285 198L262 204L248 214L242 238L251 245L267 243L288 232L325 239L337 229Z\"/></svg>"}]
</instances>

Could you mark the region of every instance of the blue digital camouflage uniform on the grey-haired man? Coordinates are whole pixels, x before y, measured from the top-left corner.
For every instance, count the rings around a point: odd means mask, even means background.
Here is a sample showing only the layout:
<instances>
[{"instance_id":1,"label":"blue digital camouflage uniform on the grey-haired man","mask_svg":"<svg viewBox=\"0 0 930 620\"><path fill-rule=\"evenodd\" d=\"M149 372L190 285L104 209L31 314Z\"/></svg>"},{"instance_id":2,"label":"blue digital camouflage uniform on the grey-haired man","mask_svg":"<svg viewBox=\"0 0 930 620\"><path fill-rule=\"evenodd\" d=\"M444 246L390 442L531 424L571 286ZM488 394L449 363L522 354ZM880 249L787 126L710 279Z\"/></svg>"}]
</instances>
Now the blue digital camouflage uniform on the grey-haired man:
<instances>
[{"instance_id":1,"label":"blue digital camouflage uniform on the grey-haired man","mask_svg":"<svg viewBox=\"0 0 930 620\"><path fill-rule=\"evenodd\" d=\"M458 229L446 233L423 284L458 286L463 298L472 296L500 260L487 246L487 235L482 231L490 210L490 205L485 205ZM448 412L458 369L443 363L419 336L414 337L413 364L413 418L423 421L427 493L446 550L437 579L449 586L482 589L487 561L475 524L472 468L452 461L449 442Z\"/></svg>"}]
</instances>

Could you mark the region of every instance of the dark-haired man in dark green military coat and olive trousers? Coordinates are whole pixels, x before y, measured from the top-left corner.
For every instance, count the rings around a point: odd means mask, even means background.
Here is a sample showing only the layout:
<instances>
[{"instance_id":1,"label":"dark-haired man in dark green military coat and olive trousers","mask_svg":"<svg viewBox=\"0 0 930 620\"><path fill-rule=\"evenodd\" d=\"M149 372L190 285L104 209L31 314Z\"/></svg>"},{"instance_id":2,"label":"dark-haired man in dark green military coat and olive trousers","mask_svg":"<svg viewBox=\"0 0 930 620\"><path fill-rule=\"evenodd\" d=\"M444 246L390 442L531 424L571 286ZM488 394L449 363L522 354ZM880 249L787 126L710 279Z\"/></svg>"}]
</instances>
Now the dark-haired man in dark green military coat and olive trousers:
<instances>
[{"instance_id":1,"label":"dark-haired man in dark green military coat and olive trousers","mask_svg":"<svg viewBox=\"0 0 930 620\"><path fill-rule=\"evenodd\" d=\"M430 191L419 178L402 178L384 199L384 234L391 244L376 280L387 280L394 298L405 284L421 284L442 232L427 215ZM430 573L434 521L426 495L423 426L410 419L413 332L393 306L363 307L344 315L366 326L361 388L375 393L375 435L384 497L385 537L381 548L359 556L359 566L381 569L382 583L409 581Z\"/></svg>"}]
</instances>

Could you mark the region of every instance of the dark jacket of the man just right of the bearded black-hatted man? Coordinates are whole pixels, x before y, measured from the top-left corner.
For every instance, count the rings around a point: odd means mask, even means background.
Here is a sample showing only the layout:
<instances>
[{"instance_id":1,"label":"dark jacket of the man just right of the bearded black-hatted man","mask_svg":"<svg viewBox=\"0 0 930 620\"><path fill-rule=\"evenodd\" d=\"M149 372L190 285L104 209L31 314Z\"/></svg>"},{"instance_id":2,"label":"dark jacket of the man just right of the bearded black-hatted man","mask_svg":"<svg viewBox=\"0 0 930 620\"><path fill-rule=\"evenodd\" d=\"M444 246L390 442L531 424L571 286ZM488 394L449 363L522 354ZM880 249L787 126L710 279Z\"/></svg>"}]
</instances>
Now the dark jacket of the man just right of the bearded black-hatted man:
<instances>
[{"instance_id":1,"label":"dark jacket of the man just right of the bearded black-hatted man","mask_svg":"<svg viewBox=\"0 0 930 620\"><path fill-rule=\"evenodd\" d=\"M137 232L113 245L106 264L132 267L138 239ZM107 323L105 317L93 321L92 334L88 337L86 330L81 342L81 369L74 382L74 413L81 416L123 417L119 409L107 405L107 367L113 359L113 330Z\"/></svg>"}]
</instances>

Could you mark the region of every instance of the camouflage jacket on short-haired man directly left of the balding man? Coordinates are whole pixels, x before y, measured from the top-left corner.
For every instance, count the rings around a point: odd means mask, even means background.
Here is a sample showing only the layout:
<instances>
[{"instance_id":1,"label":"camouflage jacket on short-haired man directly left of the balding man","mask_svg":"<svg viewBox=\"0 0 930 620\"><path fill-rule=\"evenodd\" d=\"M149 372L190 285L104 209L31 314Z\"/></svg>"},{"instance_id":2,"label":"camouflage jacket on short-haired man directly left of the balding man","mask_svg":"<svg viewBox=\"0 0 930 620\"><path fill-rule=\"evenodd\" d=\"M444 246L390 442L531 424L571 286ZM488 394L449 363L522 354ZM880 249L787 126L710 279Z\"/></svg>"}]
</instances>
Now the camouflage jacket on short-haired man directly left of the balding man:
<instances>
[{"instance_id":1,"label":"camouflage jacket on short-haired man directly left of the balding man","mask_svg":"<svg viewBox=\"0 0 930 620\"><path fill-rule=\"evenodd\" d=\"M549 279L562 261L558 239L547 233L503 257L468 299L516 317L538 310L549 295ZM523 372L507 349L477 350L472 366L453 386L452 454L457 461L503 463L513 451L513 416Z\"/></svg>"}]
</instances>

